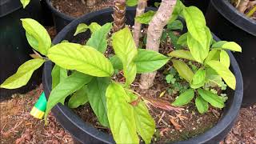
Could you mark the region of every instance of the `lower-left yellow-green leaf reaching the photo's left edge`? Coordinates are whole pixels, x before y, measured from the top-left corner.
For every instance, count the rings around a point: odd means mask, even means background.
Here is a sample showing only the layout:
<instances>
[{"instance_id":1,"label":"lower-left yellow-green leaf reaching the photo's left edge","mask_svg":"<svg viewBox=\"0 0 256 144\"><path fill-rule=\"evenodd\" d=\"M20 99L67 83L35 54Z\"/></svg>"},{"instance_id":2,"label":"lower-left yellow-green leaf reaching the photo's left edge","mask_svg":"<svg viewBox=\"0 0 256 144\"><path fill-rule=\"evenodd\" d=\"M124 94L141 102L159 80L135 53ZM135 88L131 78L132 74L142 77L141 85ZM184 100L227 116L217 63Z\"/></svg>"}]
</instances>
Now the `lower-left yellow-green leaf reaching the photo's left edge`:
<instances>
[{"instance_id":1,"label":"lower-left yellow-green leaf reaching the photo's left edge","mask_svg":"<svg viewBox=\"0 0 256 144\"><path fill-rule=\"evenodd\" d=\"M34 70L37 70L40 66L42 66L43 62L45 62L45 60L42 58L26 61L22 64L22 66L19 66L17 72L7 78L0 87L5 89L17 89L25 86L26 83L29 82Z\"/></svg>"}]
</instances>

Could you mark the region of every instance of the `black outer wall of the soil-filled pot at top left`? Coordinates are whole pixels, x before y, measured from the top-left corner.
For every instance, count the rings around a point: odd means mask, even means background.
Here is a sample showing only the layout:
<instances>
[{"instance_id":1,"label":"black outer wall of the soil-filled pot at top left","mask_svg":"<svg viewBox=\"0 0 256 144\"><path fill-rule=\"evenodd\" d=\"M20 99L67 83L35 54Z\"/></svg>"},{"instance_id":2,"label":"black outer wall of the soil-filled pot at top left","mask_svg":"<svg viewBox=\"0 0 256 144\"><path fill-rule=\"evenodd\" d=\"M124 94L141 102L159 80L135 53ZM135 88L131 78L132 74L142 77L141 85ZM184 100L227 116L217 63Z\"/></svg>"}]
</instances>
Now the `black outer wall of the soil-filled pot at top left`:
<instances>
[{"instance_id":1,"label":"black outer wall of the soil-filled pot at top left","mask_svg":"<svg viewBox=\"0 0 256 144\"><path fill-rule=\"evenodd\" d=\"M53 14L54 25L57 33L60 32L66 25L68 25L70 22L72 22L75 19L70 15L61 13L58 10L56 10L52 5L52 3L50 2L50 0L46 0L46 4Z\"/></svg>"}]
</instances>

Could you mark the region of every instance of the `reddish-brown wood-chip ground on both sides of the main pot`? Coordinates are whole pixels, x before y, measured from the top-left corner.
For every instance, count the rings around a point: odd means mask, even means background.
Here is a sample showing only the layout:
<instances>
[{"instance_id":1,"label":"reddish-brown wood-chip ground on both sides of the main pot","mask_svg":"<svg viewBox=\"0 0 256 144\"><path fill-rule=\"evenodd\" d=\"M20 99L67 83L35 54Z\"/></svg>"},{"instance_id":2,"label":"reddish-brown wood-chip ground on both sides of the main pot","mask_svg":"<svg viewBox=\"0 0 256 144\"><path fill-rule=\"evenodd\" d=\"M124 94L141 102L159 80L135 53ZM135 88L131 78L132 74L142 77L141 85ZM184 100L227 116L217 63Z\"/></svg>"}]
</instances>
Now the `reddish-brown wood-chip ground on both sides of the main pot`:
<instances>
[{"instance_id":1,"label":"reddish-brown wood-chip ground on both sides of the main pot","mask_svg":"<svg viewBox=\"0 0 256 144\"><path fill-rule=\"evenodd\" d=\"M30 116L30 110L42 93L42 86L27 94L14 94L0 102L1 143L74 143L50 114L49 124ZM256 105L242 108L235 126L221 142L256 143Z\"/></svg>"}]
</instances>

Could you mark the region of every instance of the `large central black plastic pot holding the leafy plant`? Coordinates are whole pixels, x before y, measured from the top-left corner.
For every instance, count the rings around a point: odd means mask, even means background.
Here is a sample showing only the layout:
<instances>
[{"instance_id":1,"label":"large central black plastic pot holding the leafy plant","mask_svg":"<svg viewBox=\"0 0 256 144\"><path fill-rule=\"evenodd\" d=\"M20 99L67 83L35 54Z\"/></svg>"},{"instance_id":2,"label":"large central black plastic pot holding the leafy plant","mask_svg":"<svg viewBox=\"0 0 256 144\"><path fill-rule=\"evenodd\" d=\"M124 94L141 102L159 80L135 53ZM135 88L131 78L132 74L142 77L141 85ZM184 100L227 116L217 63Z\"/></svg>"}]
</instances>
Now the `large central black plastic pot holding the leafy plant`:
<instances>
[{"instance_id":1,"label":"large central black plastic pot holding the leafy plant","mask_svg":"<svg viewBox=\"0 0 256 144\"><path fill-rule=\"evenodd\" d=\"M99 24L104 24L106 22L112 22L113 19L111 14L113 10L105 9L99 10L94 13L87 14L82 18L78 18L71 22L68 26L66 26L57 36L54 38L53 43L57 44L62 42L62 40L66 39L69 42L79 42L81 38L88 38L90 34L78 34L78 36L74 37L74 31L76 26L79 23L84 22L86 24L90 24L90 22L98 22ZM134 16L135 9L128 8L126 10L126 23L133 25L134 24ZM218 38L215 38L218 40ZM238 111L242 102L242 75L238 67L238 63L234 59L234 56L230 54L231 68L234 72L235 77L237 78L237 86L236 90L227 90L227 94L229 95L229 99L226 102L226 107L224 108L222 118L218 122L216 126L207 130L204 134L200 134L195 138L190 138L184 142L176 142L176 143L217 143L222 138L226 136L226 134L230 131L231 127L234 125L234 120L238 115ZM46 94L46 97L49 97L51 91L51 69L53 63L46 62L43 70L43 87ZM74 114L72 110L70 110L67 106L63 106L62 104L58 104L54 106L52 110L55 117L58 119L58 122L73 135L79 142L82 143L114 143L112 136L109 134L104 134L103 132L95 129L90 123L83 122L78 115Z\"/></svg>"}]
</instances>

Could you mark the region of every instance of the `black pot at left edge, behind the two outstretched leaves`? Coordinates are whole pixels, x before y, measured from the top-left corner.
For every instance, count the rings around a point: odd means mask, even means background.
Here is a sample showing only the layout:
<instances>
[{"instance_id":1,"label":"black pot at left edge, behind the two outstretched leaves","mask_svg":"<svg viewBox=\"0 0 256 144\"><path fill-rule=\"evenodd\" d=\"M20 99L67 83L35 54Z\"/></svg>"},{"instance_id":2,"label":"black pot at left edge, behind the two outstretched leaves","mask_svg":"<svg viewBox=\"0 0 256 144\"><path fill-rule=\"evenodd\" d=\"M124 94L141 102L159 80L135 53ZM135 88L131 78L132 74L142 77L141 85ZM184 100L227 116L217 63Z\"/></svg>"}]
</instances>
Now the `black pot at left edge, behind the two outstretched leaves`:
<instances>
[{"instance_id":1,"label":"black pot at left edge, behind the two outstretched leaves","mask_svg":"<svg viewBox=\"0 0 256 144\"><path fill-rule=\"evenodd\" d=\"M0 83L14 74L18 66L31 59L33 54L26 41L25 30L20 18L34 18L42 21L41 5L39 0L32 0L24 10L18 0L4 0L0 2ZM12 94L24 94L33 90L42 82L42 70L36 71L30 82L16 90L0 89L0 101L10 98Z\"/></svg>"}]
</instances>

